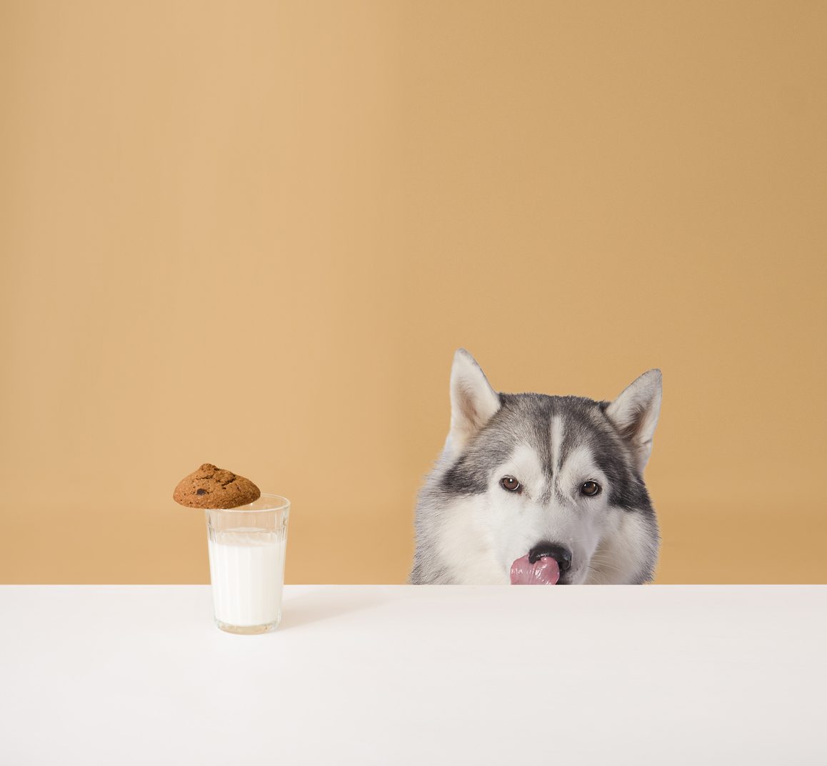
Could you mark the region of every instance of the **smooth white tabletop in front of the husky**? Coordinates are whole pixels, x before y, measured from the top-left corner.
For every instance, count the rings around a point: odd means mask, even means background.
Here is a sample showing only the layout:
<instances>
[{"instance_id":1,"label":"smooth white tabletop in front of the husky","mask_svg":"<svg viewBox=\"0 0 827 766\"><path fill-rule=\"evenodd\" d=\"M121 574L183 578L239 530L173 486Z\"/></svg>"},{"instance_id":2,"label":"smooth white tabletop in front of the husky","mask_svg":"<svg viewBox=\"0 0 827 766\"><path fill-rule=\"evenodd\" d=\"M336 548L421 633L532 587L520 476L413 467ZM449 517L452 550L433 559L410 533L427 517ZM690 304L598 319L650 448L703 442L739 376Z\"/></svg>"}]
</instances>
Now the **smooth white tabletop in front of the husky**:
<instances>
[{"instance_id":1,"label":"smooth white tabletop in front of the husky","mask_svg":"<svg viewBox=\"0 0 827 766\"><path fill-rule=\"evenodd\" d=\"M825 764L827 586L0 586L0 763Z\"/></svg>"}]
</instances>

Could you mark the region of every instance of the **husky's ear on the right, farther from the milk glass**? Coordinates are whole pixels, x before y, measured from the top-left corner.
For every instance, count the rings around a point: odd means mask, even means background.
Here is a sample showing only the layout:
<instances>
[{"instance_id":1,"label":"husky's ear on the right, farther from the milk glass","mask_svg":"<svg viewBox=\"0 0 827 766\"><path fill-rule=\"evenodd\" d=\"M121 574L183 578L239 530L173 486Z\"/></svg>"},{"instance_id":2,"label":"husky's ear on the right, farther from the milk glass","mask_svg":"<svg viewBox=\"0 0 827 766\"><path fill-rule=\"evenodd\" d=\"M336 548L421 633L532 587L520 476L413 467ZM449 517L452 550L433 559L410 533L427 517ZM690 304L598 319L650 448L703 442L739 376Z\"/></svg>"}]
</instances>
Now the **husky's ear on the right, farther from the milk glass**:
<instances>
[{"instance_id":1,"label":"husky's ear on the right, farther from the milk glass","mask_svg":"<svg viewBox=\"0 0 827 766\"><path fill-rule=\"evenodd\" d=\"M661 371L650 370L627 386L605 410L620 435L632 445L635 467L641 475L652 453L661 395Z\"/></svg>"}]
</instances>

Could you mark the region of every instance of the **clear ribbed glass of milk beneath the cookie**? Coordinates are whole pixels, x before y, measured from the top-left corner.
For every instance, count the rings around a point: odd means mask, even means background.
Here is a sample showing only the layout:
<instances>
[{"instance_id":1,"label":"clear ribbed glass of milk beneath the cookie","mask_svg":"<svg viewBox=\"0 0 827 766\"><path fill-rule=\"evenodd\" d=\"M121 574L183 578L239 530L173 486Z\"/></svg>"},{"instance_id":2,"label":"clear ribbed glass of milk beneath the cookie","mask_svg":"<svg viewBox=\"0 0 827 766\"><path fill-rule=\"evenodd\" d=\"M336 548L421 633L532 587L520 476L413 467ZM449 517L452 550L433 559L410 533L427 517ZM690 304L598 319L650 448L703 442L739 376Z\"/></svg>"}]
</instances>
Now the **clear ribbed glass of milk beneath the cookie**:
<instances>
[{"instance_id":1,"label":"clear ribbed glass of milk beneath the cookie","mask_svg":"<svg viewBox=\"0 0 827 766\"><path fill-rule=\"evenodd\" d=\"M269 633L281 620L290 501L262 495L237 508L204 510L215 624L228 633Z\"/></svg>"}]
</instances>

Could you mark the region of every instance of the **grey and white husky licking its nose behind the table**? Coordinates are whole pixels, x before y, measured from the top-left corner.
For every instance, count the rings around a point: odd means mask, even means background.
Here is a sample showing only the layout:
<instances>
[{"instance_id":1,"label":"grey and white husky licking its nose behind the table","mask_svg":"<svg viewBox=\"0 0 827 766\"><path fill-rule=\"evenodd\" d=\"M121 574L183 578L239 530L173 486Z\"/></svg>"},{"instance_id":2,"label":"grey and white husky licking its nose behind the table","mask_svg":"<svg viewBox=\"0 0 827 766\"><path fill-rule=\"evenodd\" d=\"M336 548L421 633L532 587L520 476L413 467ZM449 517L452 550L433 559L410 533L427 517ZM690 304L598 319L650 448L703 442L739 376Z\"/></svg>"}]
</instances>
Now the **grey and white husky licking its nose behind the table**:
<instances>
[{"instance_id":1,"label":"grey and white husky licking its nose behind the table","mask_svg":"<svg viewBox=\"0 0 827 766\"><path fill-rule=\"evenodd\" d=\"M661 372L613 402L498 394L454 356L451 429L416 510L410 582L648 582L660 536L643 468Z\"/></svg>"}]
</instances>

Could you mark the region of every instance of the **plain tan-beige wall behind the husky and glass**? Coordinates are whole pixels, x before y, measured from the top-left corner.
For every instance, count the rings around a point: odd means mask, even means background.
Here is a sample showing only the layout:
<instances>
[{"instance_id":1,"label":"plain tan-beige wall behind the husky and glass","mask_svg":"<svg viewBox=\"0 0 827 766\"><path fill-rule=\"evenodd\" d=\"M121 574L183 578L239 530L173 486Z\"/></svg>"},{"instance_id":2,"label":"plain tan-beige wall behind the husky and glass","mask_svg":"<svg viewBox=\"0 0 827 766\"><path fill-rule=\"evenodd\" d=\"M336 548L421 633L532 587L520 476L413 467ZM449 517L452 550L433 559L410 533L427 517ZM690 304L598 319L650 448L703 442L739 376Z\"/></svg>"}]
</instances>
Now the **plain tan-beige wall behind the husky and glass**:
<instances>
[{"instance_id":1,"label":"plain tan-beige wall behind the husky and glass","mask_svg":"<svg viewBox=\"0 0 827 766\"><path fill-rule=\"evenodd\" d=\"M452 352L660 366L657 582L827 582L822 2L0 2L0 582L404 582Z\"/></svg>"}]
</instances>

